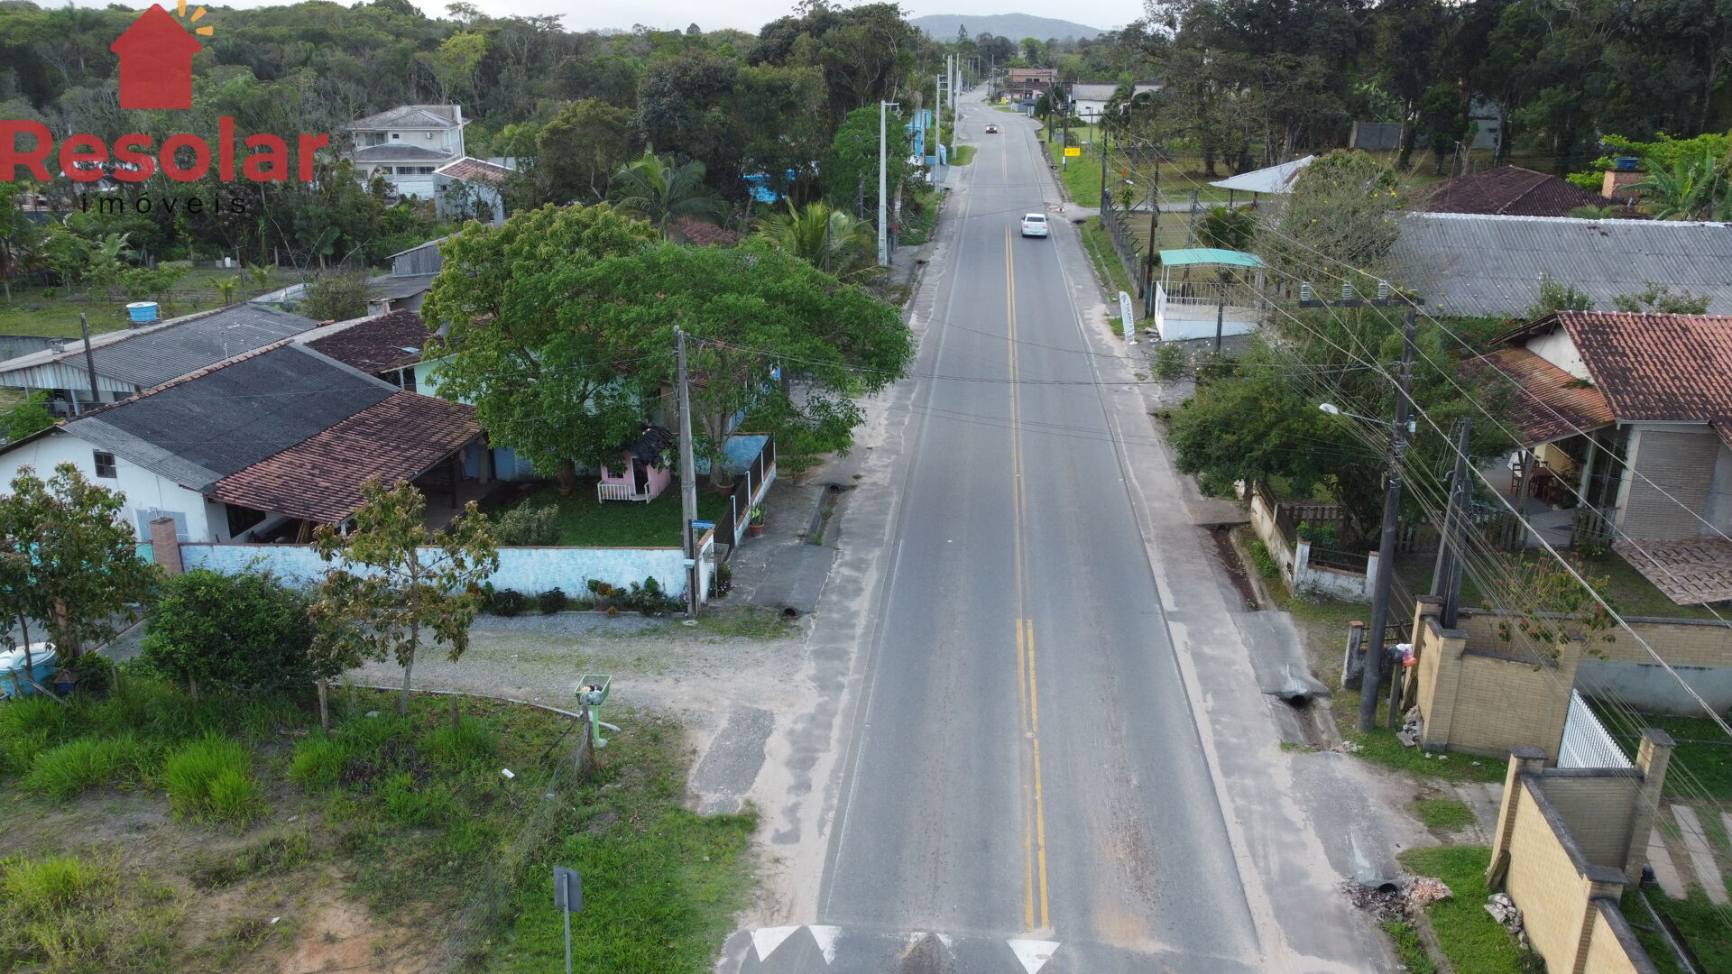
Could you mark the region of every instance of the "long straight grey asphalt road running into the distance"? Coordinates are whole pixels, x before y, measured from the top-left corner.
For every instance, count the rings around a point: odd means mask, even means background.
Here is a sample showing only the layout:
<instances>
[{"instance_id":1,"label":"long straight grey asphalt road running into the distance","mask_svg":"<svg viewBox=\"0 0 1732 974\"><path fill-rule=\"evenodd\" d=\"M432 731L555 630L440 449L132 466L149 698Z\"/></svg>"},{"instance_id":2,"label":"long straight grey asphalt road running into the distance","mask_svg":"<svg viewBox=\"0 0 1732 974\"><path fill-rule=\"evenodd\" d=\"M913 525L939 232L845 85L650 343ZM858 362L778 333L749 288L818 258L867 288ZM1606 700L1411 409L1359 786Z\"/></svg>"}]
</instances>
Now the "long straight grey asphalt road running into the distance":
<instances>
[{"instance_id":1,"label":"long straight grey asphalt road running into the distance","mask_svg":"<svg viewBox=\"0 0 1732 974\"><path fill-rule=\"evenodd\" d=\"M1044 210L1027 121L972 104L963 127L979 154L946 213L818 924L757 931L741 969L1252 971L1062 260L1076 229L1018 236Z\"/></svg>"}]
</instances>

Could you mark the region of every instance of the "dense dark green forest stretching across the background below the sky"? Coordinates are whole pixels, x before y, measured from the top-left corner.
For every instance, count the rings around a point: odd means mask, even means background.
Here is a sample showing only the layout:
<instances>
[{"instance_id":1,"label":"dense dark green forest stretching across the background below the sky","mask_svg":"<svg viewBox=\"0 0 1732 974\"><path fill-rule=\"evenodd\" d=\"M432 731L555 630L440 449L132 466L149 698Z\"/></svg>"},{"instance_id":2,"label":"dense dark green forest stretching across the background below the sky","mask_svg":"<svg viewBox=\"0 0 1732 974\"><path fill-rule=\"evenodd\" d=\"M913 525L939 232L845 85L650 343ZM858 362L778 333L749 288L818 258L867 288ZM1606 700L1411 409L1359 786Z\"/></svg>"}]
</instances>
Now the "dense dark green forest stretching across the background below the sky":
<instances>
[{"instance_id":1,"label":"dense dark green forest stretching across the background below the sky","mask_svg":"<svg viewBox=\"0 0 1732 974\"><path fill-rule=\"evenodd\" d=\"M0 118L55 135L237 130L291 139L398 104L459 102L473 120L468 153L518 168L511 210L585 203L617 192L646 151L700 163L722 206L710 218L750 225L748 173L805 203L871 217L859 151L842 153L850 113L880 99L916 109L932 76L960 54L970 78L1005 66L1050 66L1060 81L1160 80L1154 97L1121 99L1114 123L1145 142L1242 170L1344 146L1354 121L1405 123L1399 163L1438 165L1496 118L1502 154L1557 173L1593 168L1607 137L1694 137L1732 127L1725 66L1729 0L1150 0L1143 17L1093 40L934 40L895 3L805 0L757 35L736 29L568 31L559 17L492 17L457 2L426 16L407 0L345 7L324 0L249 10L211 7L194 55L194 107L118 107L109 43L133 10L0 3ZM864 118L849 144L861 142ZM864 149L859 146L859 149ZM824 173L824 163L847 173ZM1723 177L1725 163L1718 163ZM792 173L792 179L790 175ZM341 179L339 179L341 177ZM64 182L64 180L61 180ZM864 185L863 185L864 184ZM430 206L393 205L362 185L339 153L307 184L166 184L125 192L222 199L140 217L85 215L94 241L125 232L151 260L236 255L317 267L378 265L445 232ZM78 208L69 187L50 208ZM10 234L10 231L9 231ZM29 270L0 239L5 276ZM36 272L48 272L38 262Z\"/></svg>"}]
</instances>

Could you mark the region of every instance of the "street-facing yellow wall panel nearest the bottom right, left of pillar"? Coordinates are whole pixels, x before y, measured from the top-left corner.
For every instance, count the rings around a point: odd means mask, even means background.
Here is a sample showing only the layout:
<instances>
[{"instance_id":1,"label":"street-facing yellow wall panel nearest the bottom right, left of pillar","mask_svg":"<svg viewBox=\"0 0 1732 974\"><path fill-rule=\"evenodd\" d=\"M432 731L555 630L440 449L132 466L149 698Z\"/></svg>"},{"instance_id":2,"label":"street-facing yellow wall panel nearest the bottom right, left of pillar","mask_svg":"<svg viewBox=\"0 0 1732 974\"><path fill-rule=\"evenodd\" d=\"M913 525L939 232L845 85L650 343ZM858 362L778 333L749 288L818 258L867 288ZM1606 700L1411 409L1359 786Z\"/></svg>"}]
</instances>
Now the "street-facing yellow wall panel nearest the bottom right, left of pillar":
<instances>
[{"instance_id":1,"label":"street-facing yellow wall panel nearest the bottom right, left of pillar","mask_svg":"<svg viewBox=\"0 0 1732 974\"><path fill-rule=\"evenodd\" d=\"M1533 802L1531 787L1533 782L1524 780L1516 795L1516 828L1503 887L1521 908L1528 939L1545 957L1547 967L1574 971L1588 910L1588 880L1576 872L1569 853L1552 834Z\"/></svg>"}]
</instances>

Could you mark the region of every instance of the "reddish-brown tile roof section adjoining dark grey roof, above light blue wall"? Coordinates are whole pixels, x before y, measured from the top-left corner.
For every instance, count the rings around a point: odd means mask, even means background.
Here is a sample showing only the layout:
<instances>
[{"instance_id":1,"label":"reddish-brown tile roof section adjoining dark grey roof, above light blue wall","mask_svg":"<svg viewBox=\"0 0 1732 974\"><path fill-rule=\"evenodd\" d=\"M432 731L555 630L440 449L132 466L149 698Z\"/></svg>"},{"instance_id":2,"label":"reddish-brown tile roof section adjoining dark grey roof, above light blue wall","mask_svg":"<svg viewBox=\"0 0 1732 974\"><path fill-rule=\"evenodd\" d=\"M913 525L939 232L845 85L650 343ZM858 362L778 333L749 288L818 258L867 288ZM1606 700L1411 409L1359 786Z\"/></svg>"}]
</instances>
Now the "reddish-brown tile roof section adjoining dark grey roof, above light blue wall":
<instances>
[{"instance_id":1,"label":"reddish-brown tile roof section adjoining dark grey roof, above light blue wall","mask_svg":"<svg viewBox=\"0 0 1732 974\"><path fill-rule=\"evenodd\" d=\"M414 480L481 432L475 409L398 392L298 445L230 473L211 497L336 523L360 506L360 485Z\"/></svg>"}]
</instances>

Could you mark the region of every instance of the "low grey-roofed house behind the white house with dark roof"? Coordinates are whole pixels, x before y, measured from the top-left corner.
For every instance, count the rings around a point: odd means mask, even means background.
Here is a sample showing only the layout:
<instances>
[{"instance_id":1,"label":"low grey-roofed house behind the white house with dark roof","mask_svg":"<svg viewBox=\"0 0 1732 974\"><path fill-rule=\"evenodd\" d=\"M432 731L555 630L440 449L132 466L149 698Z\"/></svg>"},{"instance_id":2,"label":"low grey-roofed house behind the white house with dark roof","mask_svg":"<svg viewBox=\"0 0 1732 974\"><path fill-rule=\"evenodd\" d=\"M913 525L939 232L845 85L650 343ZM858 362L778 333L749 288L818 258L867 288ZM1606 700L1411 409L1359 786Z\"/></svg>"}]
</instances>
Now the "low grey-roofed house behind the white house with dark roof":
<instances>
[{"instance_id":1,"label":"low grey-roofed house behind the white house with dark roof","mask_svg":"<svg viewBox=\"0 0 1732 974\"><path fill-rule=\"evenodd\" d=\"M0 362L0 386L48 390L52 412L76 416L92 406L120 402L293 338L317 324L310 317L272 307L229 305L92 336L88 357L83 341L54 341L47 348ZM95 400L90 395L92 381L99 393Z\"/></svg>"}]
</instances>

